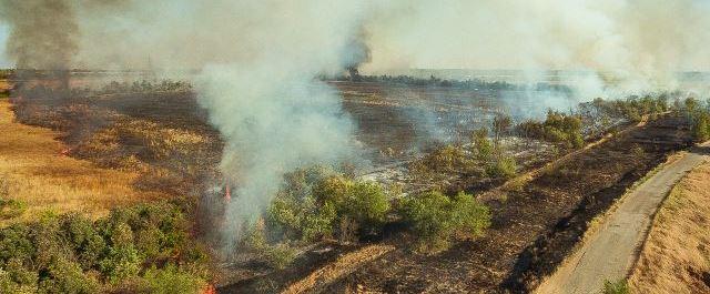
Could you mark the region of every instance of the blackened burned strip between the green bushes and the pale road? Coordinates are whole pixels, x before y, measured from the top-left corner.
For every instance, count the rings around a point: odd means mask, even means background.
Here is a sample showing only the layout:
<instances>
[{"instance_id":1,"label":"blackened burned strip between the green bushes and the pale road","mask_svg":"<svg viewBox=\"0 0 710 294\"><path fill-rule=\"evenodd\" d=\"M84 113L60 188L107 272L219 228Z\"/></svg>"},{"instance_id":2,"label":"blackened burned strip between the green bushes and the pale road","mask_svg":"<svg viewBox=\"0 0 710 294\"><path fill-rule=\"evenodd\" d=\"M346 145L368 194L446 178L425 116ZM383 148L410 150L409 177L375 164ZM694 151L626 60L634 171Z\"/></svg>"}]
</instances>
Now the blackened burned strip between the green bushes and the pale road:
<instances>
[{"instance_id":1,"label":"blackened burned strip between the green bushes and the pale road","mask_svg":"<svg viewBox=\"0 0 710 294\"><path fill-rule=\"evenodd\" d=\"M667 140L651 140L659 135ZM676 118L635 128L488 200L493 225L484 237L434 256L412 255L402 245L329 290L527 292L569 254L594 216L670 152L684 148L687 139L686 125Z\"/></svg>"}]
</instances>

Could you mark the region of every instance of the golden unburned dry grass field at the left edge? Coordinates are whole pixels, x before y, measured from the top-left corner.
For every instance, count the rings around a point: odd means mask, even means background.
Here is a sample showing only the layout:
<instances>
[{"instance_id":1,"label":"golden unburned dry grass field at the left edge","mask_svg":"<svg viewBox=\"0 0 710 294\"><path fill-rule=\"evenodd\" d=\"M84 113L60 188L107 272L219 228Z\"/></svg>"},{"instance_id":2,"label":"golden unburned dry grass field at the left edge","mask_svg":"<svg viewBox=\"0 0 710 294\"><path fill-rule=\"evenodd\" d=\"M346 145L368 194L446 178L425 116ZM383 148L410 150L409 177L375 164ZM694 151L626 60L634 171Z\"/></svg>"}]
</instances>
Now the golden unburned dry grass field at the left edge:
<instances>
[{"instance_id":1,"label":"golden unburned dry grass field at the left edge","mask_svg":"<svg viewBox=\"0 0 710 294\"><path fill-rule=\"evenodd\" d=\"M111 207L165 197L136 191L135 172L100 169L88 161L64 156L65 146L54 140L60 133L14 122L7 100L0 100L0 180L9 197L27 204L16 220L38 213L81 211L100 216Z\"/></svg>"}]
</instances>

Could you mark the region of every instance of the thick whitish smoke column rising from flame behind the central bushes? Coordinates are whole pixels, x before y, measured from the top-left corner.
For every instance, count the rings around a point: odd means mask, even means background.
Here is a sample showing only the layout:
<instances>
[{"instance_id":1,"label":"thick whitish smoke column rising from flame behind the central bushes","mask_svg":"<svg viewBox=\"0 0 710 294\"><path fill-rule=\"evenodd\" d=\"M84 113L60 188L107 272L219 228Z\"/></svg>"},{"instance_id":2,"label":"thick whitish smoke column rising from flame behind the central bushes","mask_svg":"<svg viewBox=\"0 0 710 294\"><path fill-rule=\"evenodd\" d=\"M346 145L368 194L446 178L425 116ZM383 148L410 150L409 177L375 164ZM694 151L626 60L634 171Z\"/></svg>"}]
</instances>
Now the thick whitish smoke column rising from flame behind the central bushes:
<instances>
[{"instance_id":1,"label":"thick whitish smoke column rising from flame behind the central bushes","mask_svg":"<svg viewBox=\"0 0 710 294\"><path fill-rule=\"evenodd\" d=\"M332 8L328 18L320 13L324 7ZM349 65L342 52L357 29L349 16L357 4L275 1L256 8L244 20L248 27L235 28L248 30L239 34L241 47L254 51L233 63L209 65L196 81L211 122L227 141L222 170L237 186L226 222L227 232L236 234L227 239L239 237L241 225L266 207L284 173L335 163L354 150L354 125L336 91L316 75Z\"/></svg>"}]
</instances>

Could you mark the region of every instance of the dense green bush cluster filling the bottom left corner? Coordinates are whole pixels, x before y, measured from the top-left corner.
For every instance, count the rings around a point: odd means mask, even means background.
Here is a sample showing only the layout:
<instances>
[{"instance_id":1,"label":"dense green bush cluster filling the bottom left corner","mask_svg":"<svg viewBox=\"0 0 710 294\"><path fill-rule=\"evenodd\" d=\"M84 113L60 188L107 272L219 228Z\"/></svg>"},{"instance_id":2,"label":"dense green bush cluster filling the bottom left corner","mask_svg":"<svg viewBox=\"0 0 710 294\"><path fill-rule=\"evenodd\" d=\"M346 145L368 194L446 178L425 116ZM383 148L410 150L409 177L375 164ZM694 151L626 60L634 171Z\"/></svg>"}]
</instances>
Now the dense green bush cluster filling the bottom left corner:
<instances>
[{"instance_id":1,"label":"dense green bush cluster filling the bottom left corner","mask_svg":"<svg viewBox=\"0 0 710 294\"><path fill-rule=\"evenodd\" d=\"M207 255L187 232L184 213L169 203L95 222L71 213L17 223L0 229L0 293L195 293Z\"/></svg>"}]
</instances>

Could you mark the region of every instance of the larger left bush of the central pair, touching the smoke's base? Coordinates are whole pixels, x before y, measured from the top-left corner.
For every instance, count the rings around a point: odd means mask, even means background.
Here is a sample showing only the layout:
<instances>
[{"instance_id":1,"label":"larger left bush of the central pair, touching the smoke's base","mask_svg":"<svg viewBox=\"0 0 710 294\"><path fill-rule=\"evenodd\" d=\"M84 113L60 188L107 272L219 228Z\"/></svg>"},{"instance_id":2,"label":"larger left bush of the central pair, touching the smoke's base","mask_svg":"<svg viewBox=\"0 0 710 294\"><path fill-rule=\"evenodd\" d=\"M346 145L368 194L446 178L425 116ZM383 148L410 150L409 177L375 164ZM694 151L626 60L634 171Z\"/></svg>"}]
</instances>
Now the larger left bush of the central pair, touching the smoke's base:
<instances>
[{"instance_id":1,"label":"larger left bush of the central pair, touching the smoke's base","mask_svg":"<svg viewBox=\"0 0 710 294\"><path fill-rule=\"evenodd\" d=\"M266 220L286 240L337 236L352 241L376 234L388 211L389 195L377 183L304 170L286 176L286 185L267 210Z\"/></svg>"}]
</instances>

